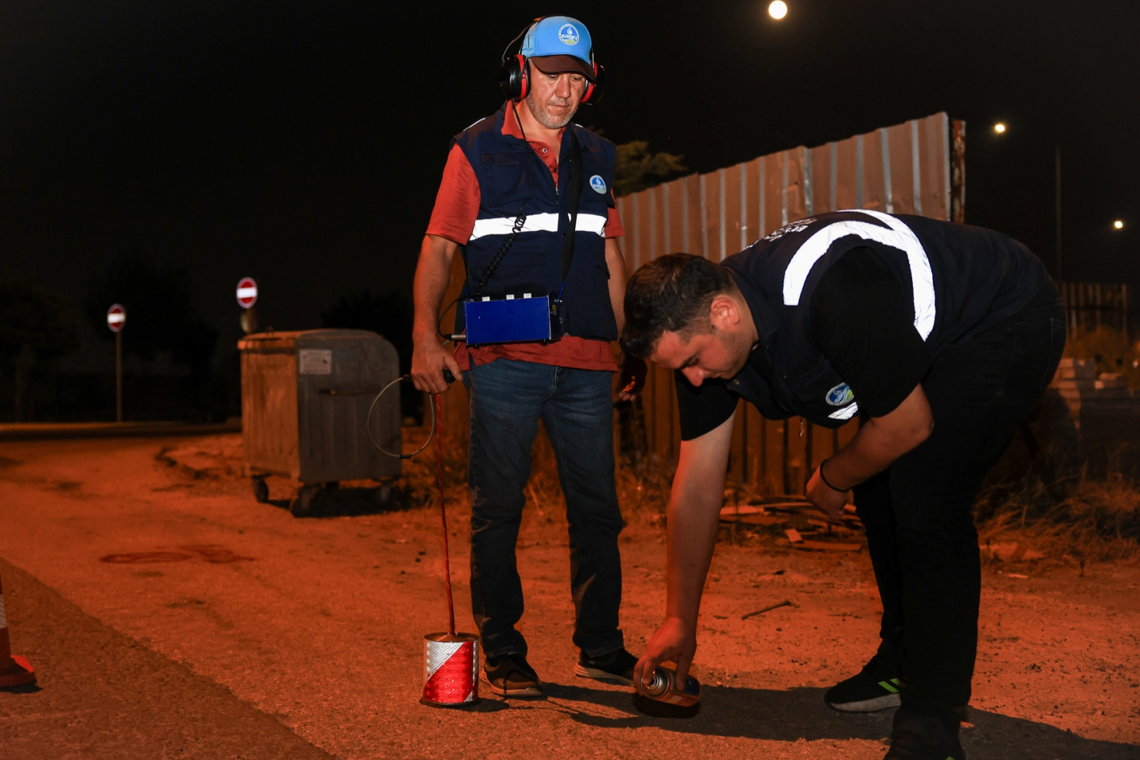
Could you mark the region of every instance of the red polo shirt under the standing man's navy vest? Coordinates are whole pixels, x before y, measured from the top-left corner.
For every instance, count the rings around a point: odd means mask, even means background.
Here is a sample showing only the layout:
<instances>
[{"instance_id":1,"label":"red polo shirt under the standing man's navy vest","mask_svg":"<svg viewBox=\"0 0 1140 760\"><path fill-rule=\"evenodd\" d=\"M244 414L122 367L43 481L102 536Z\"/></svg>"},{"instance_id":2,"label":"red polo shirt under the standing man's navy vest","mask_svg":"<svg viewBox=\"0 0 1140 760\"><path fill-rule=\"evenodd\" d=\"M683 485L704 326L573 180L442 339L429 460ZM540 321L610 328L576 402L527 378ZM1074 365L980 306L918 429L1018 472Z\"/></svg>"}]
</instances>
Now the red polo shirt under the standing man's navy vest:
<instances>
[{"instance_id":1,"label":"red polo shirt under the standing man's navy vest","mask_svg":"<svg viewBox=\"0 0 1140 760\"><path fill-rule=\"evenodd\" d=\"M514 103L507 103L506 119L503 120L503 134L523 139L519 129L519 123L514 116ZM559 144L561 145L562 132L559 132ZM535 150L535 155L543 160L546 167L551 170L554 185L559 182L559 152L551 148L545 142L538 140L527 140ZM435 195L435 207L431 212L431 221L427 223L427 234L438 235L453 243L466 245L471 239L471 232L475 228L475 219L479 216L479 180L475 171L463 154L459 146L453 146L451 153L447 156L447 165L443 167L443 180L439 185L439 193ZM621 237L626 234L618 218L618 210L610 209L609 221L605 222L605 237ZM609 297L609 294L606 294ZM477 365L486 365L496 359L516 359L519 361L532 361L539 365L554 365L557 367L572 367L575 369L601 369L617 371L613 363L613 356L610 353L609 341L595 341L591 338L567 335L559 341L553 341L543 345L542 343L496 343L491 345L480 345L472 348L470 353L474 357ZM459 367L467 369L467 345L457 343L455 346L455 360Z\"/></svg>"}]
</instances>

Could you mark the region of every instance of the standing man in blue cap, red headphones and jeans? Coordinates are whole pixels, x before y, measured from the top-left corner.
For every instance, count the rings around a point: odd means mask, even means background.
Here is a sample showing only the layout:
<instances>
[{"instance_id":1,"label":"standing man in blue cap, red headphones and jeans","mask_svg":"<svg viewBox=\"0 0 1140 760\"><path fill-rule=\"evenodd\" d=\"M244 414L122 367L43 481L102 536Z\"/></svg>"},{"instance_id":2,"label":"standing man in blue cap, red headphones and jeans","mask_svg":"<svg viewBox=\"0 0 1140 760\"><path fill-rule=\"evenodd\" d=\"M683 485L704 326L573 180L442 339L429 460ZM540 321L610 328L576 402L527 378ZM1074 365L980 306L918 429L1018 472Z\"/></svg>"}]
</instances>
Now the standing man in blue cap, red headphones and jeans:
<instances>
[{"instance_id":1,"label":"standing man in blue cap, red headphones and jeans","mask_svg":"<svg viewBox=\"0 0 1140 760\"><path fill-rule=\"evenodd\" d=\"M636 663L618 628L622 518L610 342L624 321L626 269L616 148L570 122L580 104L598 99L602 76L589 32L567 16L540 18L507 46L507 99L453 140L416 267L413 382L446 392L449 369L471 392L471 602L483 679L504 696L543 693L515 629L523 612L515 542L539 419L567 501L573 643L581 649L575 672L630 685ZM456 250L466 269L456 333L464 333L466 303L537 297L549 299L553 316L544 307L539 318L549 319L553 340L459 340L447 352L439 311Z\"/></svg>"}]
</instances>

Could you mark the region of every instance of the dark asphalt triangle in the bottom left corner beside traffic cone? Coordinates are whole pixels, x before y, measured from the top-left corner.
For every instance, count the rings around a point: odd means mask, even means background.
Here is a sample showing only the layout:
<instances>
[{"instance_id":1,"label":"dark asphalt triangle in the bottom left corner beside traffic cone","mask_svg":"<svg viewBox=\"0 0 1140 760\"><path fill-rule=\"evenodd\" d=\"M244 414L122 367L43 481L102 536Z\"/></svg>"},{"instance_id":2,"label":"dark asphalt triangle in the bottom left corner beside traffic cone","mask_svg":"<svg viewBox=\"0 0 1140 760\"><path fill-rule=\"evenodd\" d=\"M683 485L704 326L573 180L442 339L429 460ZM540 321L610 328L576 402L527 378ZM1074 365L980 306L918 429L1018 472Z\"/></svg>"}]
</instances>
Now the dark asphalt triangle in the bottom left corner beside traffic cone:
<instances>
[{"instance_id":1,"label":"dark asphalt triangle in the bottom left corner beside traffic cone","mask_svg":"<svg viewBox=\"0 0 1140 760\"><path fill-rule=\"evenodd\" d=\"M38 676L36 684L0 694L0 758L333 757L2 559L0 578L18 631L16 653Z\"/></svg>"}]
</instances>

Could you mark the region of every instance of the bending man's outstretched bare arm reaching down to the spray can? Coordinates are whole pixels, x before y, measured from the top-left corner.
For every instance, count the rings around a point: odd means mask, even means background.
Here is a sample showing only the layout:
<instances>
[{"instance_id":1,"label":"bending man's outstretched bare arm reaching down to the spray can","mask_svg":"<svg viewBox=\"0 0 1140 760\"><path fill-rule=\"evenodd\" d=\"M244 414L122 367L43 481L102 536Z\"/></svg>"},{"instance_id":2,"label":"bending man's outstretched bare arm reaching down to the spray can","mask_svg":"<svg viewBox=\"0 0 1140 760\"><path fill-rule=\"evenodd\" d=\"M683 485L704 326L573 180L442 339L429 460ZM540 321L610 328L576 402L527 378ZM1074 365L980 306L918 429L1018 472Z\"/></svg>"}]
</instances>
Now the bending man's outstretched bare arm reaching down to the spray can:
<instances>
[{"instance_id":1,"label":"bending man's outstretched bare arm reaching down to the spray can","mask_svg":"<svg viewBox=\"0 0 1140 760\"><path fill-rule=\"evenodd\" d=\"M677 680L685 683L697 652L697 618L701 608L705 577L716 548L716 534L724 501L724 473L732 446L733 418L719 427L682 441L681 460L669 497L668 550L666 558L665 623L645 645L634 668L634 685L643 690L644 679L663 660L677 663Z\"/></svg>"}]
</instances>

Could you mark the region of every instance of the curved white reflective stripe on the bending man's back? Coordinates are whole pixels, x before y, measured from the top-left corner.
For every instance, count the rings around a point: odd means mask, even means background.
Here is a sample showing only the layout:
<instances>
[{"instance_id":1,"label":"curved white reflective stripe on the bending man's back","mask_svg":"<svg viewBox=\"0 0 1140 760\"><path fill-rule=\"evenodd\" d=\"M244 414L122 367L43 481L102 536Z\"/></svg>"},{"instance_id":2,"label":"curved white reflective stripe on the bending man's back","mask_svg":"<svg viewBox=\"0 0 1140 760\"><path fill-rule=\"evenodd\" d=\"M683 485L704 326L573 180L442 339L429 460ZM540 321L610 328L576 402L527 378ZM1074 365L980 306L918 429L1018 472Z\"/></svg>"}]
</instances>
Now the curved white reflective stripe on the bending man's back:
<instances>
[{"instance_id":1,"label":"curved white reflective stripe on the bending man's back","mask_svg":"<svg viewBox=\"0 0 1140 760\"><path fill-rule=\"evenodd\" d=\"M914 291L914 328L926 341L934 329L934 318L936 313L934 297L934 272L930 270L930 260L926 250L919 243L918 236L911 228L898 219L879 211L868 211L866 209L849 209L841 213L860 213L878 219L890 229L883 229L877 224L856 221L837 221L828 224L819 232L807 238L784 270L783 301L785 305L799 305L799 296L804 293L804 284L812 271L815 262L823 258L831 244L841 237L857 235L864 240L874 240L893 248L898 248L906 254L906 261L911 268L911 283ZM831 415L834 417L836 415ZM845 419L845 418L844 418Z\"/></svg>"}]
</instances>

